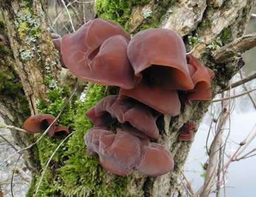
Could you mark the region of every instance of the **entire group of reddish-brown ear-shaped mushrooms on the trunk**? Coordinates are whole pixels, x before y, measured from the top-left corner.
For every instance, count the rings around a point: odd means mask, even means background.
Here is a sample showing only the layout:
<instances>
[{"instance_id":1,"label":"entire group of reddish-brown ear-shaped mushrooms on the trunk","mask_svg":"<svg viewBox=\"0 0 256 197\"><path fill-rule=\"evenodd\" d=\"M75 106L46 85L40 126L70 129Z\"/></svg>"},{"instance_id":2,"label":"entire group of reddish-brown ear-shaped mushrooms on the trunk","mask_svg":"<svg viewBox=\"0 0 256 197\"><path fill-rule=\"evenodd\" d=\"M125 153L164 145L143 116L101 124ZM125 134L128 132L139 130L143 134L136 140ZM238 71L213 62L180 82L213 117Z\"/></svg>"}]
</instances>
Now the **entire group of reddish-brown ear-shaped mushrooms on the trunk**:
<instances>
[{"instance_id":1,"label":"entire group of reddish-brown ear-shaped mushrooms on the trunk","mask_svg":"<svg viewBox=\"0 0 256 197\"><path fill-rule=\"evenodd\" d=\"M186 54L181 37L169 29L146 29L131 39L119 24L94 19L73 34L52 38L61 64L78 79L120 87L118 95L105 97L86 113L95 125L84 136L87 154L98 154L100 164L114 174L138 170L160 176L171 171L171 153L150 141L159 139L156 119L161 114L177 116L181 94L190 104L210 100L213 71ZM45 117L50 115L36 116L41 117L38 128L43 120L51 122ZM184 124L179 139L190 140L193 129L193 123Z\"/></svg>"}]
</instances>

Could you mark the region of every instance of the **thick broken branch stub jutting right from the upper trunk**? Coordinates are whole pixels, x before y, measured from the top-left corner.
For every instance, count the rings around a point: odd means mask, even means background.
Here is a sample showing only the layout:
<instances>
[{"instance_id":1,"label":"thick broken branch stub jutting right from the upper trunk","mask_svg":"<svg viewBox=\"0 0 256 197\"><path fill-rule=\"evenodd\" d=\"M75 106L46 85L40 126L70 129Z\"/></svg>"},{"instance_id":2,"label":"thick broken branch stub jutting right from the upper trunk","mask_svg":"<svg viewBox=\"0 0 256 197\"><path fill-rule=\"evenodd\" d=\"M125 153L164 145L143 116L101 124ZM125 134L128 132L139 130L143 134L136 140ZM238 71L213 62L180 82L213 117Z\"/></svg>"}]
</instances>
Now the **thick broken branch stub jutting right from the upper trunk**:
<instances>
[{"instance_id":1,"label":"thick broken branch stub jutting right from the upper trunk","mask_svg":"<svg viewBox=\"0 0 256 197\"><path fill-rule=\"evenodd\" d=\"M240 56L245 51L256 46L256 34L248 34L241 38L235 39L216 51L211 52L211 56L217 63L223 63L233 56Z\"/></svg>"}]
</instances>

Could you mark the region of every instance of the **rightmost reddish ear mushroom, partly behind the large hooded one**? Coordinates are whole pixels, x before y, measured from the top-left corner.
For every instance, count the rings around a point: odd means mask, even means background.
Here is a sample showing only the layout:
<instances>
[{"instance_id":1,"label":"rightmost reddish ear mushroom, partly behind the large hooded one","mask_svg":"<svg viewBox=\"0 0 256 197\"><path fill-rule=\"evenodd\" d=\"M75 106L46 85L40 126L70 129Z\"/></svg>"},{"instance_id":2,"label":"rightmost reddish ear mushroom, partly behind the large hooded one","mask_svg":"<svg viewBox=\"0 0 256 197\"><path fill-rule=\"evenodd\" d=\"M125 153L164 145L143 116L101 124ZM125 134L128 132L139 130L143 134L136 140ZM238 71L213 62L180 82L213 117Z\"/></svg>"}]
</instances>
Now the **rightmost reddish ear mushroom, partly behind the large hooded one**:
<instances>
[{"instance_id":1,"label":"rightmost reddish ear mushroom, partly behind the large hooded one","mask_svg":"<svg viewBox=\"0 0 256 197\"><path fill-rule=\"evenodd\" d=\"M215 74L213 71L198 61L192 54L186 55L189 73L195 84L195 88L189 90L188 101L210 100L211 99L211 79Z\"/></svg>"}]
</instances>

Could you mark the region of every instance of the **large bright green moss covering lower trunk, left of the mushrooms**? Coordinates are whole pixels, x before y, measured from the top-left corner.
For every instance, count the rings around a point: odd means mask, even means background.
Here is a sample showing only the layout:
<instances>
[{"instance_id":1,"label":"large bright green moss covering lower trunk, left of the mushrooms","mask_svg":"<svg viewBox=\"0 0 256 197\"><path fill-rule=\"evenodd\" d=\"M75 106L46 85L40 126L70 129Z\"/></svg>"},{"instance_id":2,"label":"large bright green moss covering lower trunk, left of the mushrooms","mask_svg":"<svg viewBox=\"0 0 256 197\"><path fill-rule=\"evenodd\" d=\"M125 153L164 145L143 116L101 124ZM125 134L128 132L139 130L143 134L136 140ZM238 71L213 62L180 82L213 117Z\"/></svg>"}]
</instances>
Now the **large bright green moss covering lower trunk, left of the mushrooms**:
<instances>
[{"instance_id":1,"label":"large bright green moss covering lower trunk, left of the mushrooms","mask_svg":"<svg viewBox=\"0 0 256 197\"><path fill-rule=\"evenodd\" d=\"M65 94L66 96L70 94L67 87L50 91L48 108L45 109L46 101L38 102L38 108L41 108L40 113L57 113L61 108L60 103L63 104ZM84 101L76 99L77 101L71 102L61 115L60 124L68 126L75 133L53 157L38 196L132 196L125 189L130 182L129 176L113 175L112 180L105 183L104 178L107 174L100 166L99 157L86 155L87 148L83 136L93 125L86 118L85 112L104 96L105 86L88 83ZM61 139L50 139L46 136L37 144L43 166L60 141ZM36 183L39 178L36 177ZM35 193L35 185L29 189L31 196Z\"/></svg>"}]
</instances>

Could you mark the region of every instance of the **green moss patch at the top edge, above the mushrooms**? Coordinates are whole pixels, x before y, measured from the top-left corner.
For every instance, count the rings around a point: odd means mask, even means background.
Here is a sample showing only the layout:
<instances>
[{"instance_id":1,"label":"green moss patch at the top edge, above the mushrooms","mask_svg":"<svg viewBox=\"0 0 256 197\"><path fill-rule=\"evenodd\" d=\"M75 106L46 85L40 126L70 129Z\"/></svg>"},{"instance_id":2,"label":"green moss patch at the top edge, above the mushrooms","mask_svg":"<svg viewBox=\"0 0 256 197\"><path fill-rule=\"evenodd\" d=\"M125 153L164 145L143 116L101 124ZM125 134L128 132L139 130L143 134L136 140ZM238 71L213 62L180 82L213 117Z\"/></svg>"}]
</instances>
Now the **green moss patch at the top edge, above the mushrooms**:
<instances>
[{"instance_id":1,"label":"green moss patch at the top edge, above the mushrooms","mask_svg":"<svg viewBox=\"0 0 256 197\"><path fill-rule=\"evenodd\" d=\"M97 0L95 10L100 18L110 19L125 28L131 16L131 3L125 0Z\"/></svg>"}]
</instances>

